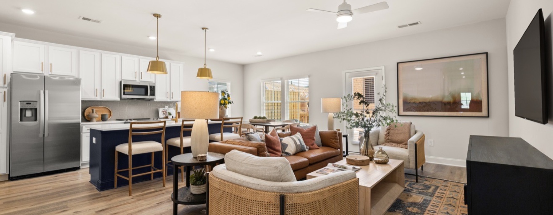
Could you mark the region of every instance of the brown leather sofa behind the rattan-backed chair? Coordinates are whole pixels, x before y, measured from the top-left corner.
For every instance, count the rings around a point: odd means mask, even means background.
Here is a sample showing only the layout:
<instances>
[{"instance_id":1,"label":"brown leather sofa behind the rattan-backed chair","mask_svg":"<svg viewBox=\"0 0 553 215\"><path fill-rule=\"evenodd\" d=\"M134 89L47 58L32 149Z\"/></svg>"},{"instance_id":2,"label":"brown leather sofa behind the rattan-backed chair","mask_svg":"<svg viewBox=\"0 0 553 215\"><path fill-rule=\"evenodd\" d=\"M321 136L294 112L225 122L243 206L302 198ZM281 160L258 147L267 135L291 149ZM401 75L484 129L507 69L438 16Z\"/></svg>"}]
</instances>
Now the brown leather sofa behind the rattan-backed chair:
<instances>
[{"instance_id":1,"label":"brown leather sofa behind the rattan-backed chair","mask_svg":"<svg viewBox=\"0 0 553 215\"><path fill-rule=\"evenodd\" d=\"M279 133L284 138L291 135L290 132ZM288 159L297 180L304 179L312 171L321 169L327 164L342 160L342 133L336 130L323 130L319 132L322 146L319 149L302 151L291 156L283 156ZM210 143L209 150L216 153L226 154L236 149L246 153L267 156L267 146L263 142L244 141L243 139L225 140L222 142Z\"/></svg>"}]
</instances>

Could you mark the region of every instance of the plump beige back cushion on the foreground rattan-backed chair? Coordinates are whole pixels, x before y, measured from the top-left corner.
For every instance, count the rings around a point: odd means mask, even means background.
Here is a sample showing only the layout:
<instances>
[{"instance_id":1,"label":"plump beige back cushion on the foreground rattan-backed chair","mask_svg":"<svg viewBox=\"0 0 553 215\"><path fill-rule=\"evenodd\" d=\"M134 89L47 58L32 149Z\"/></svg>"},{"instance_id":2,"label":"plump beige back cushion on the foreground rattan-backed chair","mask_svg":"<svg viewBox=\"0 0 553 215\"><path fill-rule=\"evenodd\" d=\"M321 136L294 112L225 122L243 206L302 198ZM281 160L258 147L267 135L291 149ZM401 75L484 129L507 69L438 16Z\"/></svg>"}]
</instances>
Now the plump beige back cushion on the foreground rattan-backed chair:
<instances>
[{"instance_id":1,"label":"plump beige back cushion on the foreground rattan-backed chair","mask_svg":"<svg viewBox=\"0 0 553 215\"><path fill-rule=\"evenodd\" d=\"M294 171L285 158L258 157L238 150L225 155L227 170L265 181L296 181Z\"/></svg>"}]
</instances>

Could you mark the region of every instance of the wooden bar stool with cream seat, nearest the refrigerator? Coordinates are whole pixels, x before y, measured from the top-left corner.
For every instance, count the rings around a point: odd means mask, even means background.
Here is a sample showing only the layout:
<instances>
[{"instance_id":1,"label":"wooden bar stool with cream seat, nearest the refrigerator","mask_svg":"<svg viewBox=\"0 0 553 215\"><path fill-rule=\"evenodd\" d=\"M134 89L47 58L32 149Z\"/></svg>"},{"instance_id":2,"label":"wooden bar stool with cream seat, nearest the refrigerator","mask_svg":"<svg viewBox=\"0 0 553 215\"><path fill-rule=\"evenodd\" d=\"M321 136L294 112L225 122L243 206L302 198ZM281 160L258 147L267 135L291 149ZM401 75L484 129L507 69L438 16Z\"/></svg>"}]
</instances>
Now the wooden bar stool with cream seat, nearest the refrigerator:
<instances>
[{"instance_id":1,"label":"wooden bar stool with cream seat, nearest the refrigerator","mask_svg":"<svg viewBox=\"0 0 553 215\"><path fill-rule=\"evenodd\" d=\"M158 124L158 125L156 125ZM161 125L159 125L161 124ZM138 125L138 126L135 126ZM151 126L148 126L151 125ZM133 130L149 130L143 132L133 132ZM152 135L152 134L161 134L161 143L157 141L138 141L133 143L133 135ZM156 151L161 151L161 162L163 163L162 169L154 167L154 153ZM129 156L129 167L127 169L118 170L117 161L119 153L123 153ZM144 166L133 166L133 155L152 153L152 164ZM133 175L132 170L150 167L149 172L144 172L141 174ZM119 174L121 171L128 171L128 177ZM163 187L165 187L165 121L155 121L155 122L131 122L131 127L129 127L129 142L119 144L115 148L115 188L117 188L117 177L122 177L129 181L129 196L132 196L132 185L133 177L150 174L151 179L154 180L154 173L161 172L163 175Z\"/></svg>"}]
</instances>

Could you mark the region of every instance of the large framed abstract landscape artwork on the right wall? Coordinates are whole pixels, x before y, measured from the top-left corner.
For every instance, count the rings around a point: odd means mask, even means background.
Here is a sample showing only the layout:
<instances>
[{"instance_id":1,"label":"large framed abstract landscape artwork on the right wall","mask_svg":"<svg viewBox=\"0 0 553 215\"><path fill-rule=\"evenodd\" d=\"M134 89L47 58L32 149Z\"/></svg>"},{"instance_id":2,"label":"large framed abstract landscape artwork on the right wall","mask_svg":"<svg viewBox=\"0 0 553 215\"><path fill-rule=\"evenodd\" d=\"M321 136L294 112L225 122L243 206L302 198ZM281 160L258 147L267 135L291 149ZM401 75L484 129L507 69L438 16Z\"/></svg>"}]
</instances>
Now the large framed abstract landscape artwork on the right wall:
<instances>
[{"instance_id":1,"label":"large framed abstract landscape artwork on the right wall","mask_svg":"<svg viewBox=\"0 0 553 215\"><path fill-rule=\"evenodd\" d=\"M398 116L489 117L488 53L398 62Z\"/></svg>"}]
</instances>

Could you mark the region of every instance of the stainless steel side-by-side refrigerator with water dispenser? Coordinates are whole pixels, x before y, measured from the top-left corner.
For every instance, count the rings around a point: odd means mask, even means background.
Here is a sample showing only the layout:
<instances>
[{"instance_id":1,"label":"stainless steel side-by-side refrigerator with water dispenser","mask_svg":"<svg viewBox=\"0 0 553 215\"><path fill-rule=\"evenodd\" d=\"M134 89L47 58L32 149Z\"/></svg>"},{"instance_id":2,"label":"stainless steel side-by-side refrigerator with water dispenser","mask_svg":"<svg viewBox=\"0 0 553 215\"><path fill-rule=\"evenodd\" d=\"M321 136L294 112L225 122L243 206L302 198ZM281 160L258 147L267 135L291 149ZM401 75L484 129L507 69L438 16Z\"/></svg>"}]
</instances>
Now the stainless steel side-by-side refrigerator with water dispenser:
<instances>
[{"instance_id":1,"label":"stainless steel side-by-side refrigerator with water dispenser","mask_svg":"<svg viewBox=\"0 0 553 215\"><path fill-rule=\"evenodd\" d=\"M81 79L12 74L9 177L75 170L81 157Z\"/></svg>"}]
</instances>

